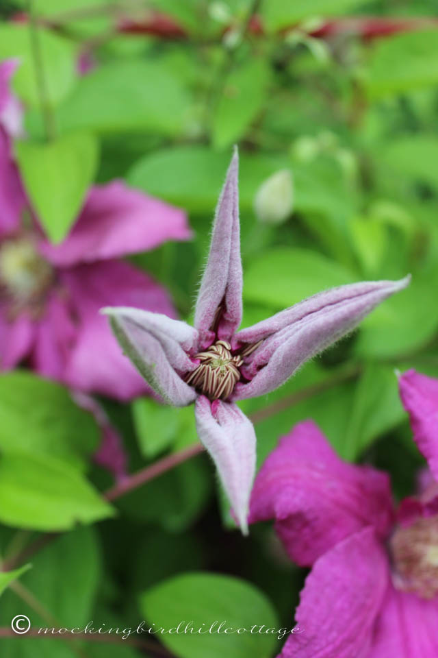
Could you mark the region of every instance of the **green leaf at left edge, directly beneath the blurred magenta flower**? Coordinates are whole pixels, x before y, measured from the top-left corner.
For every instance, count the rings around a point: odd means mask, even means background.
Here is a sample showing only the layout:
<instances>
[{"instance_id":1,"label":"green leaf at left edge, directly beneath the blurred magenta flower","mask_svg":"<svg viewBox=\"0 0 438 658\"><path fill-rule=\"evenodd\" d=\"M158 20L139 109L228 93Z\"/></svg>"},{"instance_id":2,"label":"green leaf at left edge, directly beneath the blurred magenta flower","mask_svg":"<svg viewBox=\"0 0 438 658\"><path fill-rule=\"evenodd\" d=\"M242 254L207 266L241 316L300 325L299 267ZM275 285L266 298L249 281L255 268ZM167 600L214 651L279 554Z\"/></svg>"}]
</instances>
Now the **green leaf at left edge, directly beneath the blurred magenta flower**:
<instances>
[{"instance_id":1,"label":"green leaf at left edge, directly beneath the blurred magenta flower","mask_svg":"<svg viewBox=\"0 0 438 658\"><path fill-rule=\"evenodd\" d=\"M90 413L61 385L27 371L0 376L0 451L47 454L84 470L99 443Z\"/></svg>"}]
</instances>

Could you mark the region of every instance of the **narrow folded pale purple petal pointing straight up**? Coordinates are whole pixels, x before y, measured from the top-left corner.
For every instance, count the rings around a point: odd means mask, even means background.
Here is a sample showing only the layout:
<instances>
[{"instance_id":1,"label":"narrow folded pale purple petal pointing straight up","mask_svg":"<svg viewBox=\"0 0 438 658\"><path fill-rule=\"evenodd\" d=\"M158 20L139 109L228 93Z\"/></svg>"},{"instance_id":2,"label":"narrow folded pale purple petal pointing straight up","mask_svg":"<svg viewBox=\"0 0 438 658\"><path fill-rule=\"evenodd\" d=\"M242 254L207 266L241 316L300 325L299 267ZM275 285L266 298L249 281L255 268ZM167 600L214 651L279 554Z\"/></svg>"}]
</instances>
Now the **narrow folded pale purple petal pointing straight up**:
<instances>
[{"instance_id":1,"label":"narrow folded pale purple petal pointing straight up","mask_svg":"<svg viewBox=\"0 0 438 658\"><path fill-rule=\"evenodd\" d=\"M216 208L207 265L196 300L194 326L201 348L214 340L229 341L242 319L242 261L240 259L239 159L235 149Z\"/></svg>"}]
</instances>

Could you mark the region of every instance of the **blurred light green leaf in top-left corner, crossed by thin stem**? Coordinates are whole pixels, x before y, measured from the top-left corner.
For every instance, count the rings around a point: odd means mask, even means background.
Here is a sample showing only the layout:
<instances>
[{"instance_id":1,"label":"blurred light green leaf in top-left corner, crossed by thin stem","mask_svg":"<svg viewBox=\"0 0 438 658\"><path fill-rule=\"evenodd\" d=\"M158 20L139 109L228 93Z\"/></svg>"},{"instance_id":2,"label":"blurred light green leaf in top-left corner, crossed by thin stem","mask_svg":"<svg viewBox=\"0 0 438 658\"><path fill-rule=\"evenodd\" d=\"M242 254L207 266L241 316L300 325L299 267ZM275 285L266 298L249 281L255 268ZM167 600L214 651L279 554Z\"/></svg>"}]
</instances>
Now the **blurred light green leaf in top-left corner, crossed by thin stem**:
<instances>
[{"instance_id":1,"label":"blurred light green leaf in top-left corner, crossed by thin stem","mask_svg":"<svg viewBox=\"0 0 438 658\"><path fill-rule=\"evenodd\" d=\"M47 95L49 102L56 104L66 97L77 80L75 47L71 42L40 27L38 28L38 40ZM7 58L20 60L20 66L18 66L12 83L16 93L26 103L39 108L40 95L29 25L13 23L0 25L0 60Z\"/></svg>"}]
</instances>

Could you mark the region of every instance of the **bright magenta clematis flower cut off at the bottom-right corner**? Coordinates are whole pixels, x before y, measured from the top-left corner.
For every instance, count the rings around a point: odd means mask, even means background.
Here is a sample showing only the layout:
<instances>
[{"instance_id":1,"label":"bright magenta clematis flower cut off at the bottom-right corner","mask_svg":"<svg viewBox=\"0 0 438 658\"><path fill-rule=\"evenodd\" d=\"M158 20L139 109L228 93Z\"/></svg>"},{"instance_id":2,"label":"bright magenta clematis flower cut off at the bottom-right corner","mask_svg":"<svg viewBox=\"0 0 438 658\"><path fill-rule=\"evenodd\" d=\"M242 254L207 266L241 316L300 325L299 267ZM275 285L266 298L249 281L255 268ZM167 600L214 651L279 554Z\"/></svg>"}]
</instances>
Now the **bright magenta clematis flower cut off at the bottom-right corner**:
<instances>
[{"instance_id":1,"label":"bright magenta clematis flower cut off at the bottom-right corner","mask_svg":"<svg viewBox=\"0 0 438 658\"><path fill-rule=\"evenodd\" d=\"M430 460L429 460L430 465ZM389 476L345 463L311 421L255 480L250 523L274 518L289 556L311 566L279 658L438 655L437 483L394 507Z\"/></svg>"}]
</instances>

